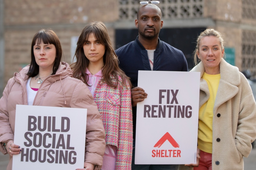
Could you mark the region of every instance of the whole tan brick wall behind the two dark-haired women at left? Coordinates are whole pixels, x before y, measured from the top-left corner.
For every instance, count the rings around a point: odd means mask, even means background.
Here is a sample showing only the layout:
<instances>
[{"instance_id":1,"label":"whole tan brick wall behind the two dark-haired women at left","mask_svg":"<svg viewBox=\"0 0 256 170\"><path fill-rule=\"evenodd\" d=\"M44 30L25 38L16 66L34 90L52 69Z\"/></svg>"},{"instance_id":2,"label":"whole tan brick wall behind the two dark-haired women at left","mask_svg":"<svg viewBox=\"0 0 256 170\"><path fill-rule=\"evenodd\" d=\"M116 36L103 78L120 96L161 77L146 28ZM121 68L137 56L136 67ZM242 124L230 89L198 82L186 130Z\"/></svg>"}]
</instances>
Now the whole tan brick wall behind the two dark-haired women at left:
<instances>
[{"instance_id":1,"label":"whole tan brick wall behind the two dark-haired women at left","mask_svg":"<svg viewBox=\"0 0 256 170\"><path fill-rule=\"evenodd\" d=\"M42 28L52 28L63 48L63 61L70 63L72 36L79 36L91 21L111 23L118 19L115 0L5 0L5 76L4 86L14 72L30 63L33 35ZM110 24L111 25L111 24ZM108 28L111 40L114 29Z\"/></svg>"}]
</instances>

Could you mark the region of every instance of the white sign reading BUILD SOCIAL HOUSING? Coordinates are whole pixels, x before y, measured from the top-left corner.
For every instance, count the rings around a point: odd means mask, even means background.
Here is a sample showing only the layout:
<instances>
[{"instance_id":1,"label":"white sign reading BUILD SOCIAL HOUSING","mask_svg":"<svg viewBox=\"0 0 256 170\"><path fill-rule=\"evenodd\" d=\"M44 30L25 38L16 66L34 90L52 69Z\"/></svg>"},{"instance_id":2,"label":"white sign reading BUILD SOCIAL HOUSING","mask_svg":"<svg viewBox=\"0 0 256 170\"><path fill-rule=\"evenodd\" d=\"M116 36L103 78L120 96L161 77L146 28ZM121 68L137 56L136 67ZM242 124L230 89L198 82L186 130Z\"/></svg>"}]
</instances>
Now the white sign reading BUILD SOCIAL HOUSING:
<instances>
[{"instance_id":1,"label":"white sign reading BUILD SOCIAL HOUSING","mask_svg":"<svg viewBox=\"0 0 256 170\"><path fill-rule=\"evenodd\" d=\"M16 169L84 167L87 109L16 105Z\"/></svg>"}]
</instances>

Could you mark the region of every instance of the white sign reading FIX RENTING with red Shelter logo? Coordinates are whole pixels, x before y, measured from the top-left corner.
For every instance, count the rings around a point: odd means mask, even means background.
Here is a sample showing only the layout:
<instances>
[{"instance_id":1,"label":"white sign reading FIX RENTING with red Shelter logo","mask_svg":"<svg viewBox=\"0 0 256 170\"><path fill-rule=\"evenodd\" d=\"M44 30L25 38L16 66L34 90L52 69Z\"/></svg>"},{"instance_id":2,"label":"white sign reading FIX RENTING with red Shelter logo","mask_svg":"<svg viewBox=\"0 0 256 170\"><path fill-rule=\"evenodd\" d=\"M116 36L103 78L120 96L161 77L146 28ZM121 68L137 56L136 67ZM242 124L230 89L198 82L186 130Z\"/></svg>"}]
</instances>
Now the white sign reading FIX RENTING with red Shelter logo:
<instances>
[{"instance_id":1,"label":"white sign reading FIX RENTING with red Shelter logo","mask_svg":"<svg viewBox=\"0 0 256 170\"><path fill-rule=\"evenodd\" d=\"M135 164L196 163L200 72L139 71Z\"/></svg>"}]
</instances>

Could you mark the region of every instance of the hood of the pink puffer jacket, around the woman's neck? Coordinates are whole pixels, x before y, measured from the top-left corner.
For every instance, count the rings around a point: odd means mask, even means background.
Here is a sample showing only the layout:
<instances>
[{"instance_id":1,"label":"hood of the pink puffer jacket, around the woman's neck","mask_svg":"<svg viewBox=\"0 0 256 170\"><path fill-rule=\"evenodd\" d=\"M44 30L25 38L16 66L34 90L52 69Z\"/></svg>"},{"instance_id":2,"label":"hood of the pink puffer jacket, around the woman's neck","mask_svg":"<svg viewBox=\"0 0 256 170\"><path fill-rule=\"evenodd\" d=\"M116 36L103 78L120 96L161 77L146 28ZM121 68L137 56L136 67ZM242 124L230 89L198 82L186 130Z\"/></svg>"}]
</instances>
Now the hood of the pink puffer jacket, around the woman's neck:
<instances>
[{"instance_id":1,"label":"hood of the pink puffer jacket, around the woman's neck","mask_svg":"<svg viewBox=\"0 0 256 170\"><path fill-rule=\"evenodd\" d=\"M15 72L14 80L17 82L26 81L29 78L29 76L27 75L29 66L30 65L27 65L26 67L24 67L19 73ZM71 70L69 64L66 62L61 62L59 69L56 71L56 74L47 77L47 80L49 82L53 83L55 81L64 79L69 76L72 77L72 70Z\"/></svg>"}]
</instances>

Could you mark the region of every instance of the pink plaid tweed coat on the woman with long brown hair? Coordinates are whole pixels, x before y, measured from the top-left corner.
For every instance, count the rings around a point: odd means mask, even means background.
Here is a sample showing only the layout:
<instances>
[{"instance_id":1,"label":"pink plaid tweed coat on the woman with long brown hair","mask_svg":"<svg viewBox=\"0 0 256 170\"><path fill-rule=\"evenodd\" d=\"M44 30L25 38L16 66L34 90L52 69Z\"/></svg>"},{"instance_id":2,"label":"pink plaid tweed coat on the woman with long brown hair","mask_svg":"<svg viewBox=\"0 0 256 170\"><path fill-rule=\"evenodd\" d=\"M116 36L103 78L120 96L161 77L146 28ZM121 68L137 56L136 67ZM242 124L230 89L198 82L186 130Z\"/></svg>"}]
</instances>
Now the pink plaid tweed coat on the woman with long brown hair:
<instances>
[{"instance_id":1,"label":"pink plaid tweed coat on the woman with long brown hair","mask_svg":"<svg viewBox=\"0 0 256 170\"><path fill-rule=\"evenodd\" d=\"M115 82L116 79L111 76ZM119 80L121 78L119 77ZM132 162L132 105L131 89L126 87L114 89L100 80L94 91L94 102L98 106L101 120L105 128L106 144L117 147L115 169L131 169Z\"/></svg>"}]
</instances>

